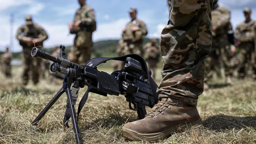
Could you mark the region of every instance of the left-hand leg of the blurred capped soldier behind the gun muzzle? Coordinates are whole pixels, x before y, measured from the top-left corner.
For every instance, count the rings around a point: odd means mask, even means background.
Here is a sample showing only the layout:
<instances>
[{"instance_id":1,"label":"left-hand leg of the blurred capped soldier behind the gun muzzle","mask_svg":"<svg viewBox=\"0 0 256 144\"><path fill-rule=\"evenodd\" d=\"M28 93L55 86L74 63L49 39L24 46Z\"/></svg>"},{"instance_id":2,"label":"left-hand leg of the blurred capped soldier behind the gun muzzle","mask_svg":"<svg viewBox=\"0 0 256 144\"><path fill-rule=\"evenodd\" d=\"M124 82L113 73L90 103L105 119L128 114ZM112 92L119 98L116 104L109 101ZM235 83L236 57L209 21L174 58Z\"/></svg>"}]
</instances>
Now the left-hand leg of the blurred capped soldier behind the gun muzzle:
<instances>
[{"instance_id":1,"label":"left-hand leg of the blurred capped soldier behind the gun muzzle","mask_svg":"<svg viewBox=\"0 0 256 144\"><path fill-rule=\"evenodd\" d=\"M29 80L28 72L32 66L31 48L23 48L21 57L23 61L22 84L27 85Z\"/></svg>"}]
</instances>

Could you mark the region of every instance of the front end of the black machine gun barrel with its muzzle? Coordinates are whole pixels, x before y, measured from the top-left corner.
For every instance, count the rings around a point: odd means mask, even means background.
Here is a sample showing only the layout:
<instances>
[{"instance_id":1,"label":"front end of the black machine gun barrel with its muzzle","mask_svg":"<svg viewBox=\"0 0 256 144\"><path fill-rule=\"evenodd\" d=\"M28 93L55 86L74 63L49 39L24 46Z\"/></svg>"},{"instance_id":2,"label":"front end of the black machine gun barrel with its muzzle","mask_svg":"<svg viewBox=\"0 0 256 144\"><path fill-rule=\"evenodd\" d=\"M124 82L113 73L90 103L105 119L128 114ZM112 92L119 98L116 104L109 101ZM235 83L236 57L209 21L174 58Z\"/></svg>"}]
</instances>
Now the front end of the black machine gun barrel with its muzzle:
<instances>
[{"instance_id":1,"label":"front end of the black machine gun barrel with its muzzle","mask_svg":"<svg viewBox=\"0 0 256 144\"><path fill-rule=\"evenodd\" d=\"M55 63L60 63L60 60L58 57L52 56L47 52L41 51L39 48L34 47L31 51L31 56L32 57L39 57L45 60L51 60Z\"/></svg>"}]
</instances>

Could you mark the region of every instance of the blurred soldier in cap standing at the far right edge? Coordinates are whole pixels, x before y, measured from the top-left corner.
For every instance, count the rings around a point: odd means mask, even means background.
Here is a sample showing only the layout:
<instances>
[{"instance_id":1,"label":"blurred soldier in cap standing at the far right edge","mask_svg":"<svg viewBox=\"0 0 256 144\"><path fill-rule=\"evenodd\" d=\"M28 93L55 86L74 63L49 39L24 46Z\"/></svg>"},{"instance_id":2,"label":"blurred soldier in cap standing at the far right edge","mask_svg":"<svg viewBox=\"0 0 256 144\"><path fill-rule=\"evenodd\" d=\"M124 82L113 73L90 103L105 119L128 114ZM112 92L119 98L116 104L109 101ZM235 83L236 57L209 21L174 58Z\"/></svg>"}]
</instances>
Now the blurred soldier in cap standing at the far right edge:
<instances>
[{"instance_id":1,"label":"blurred soldier in cap standing at the far right edge","mask_svg":"<svg viewBox=\"0 0 256 144\"><path fill-rule=\"evenodd\" d=\"M245 21L236 27L235 36L238 39L240 60L238 66L238 75L244 78L246 73L252 69L252 77L255 76L255 35L256 35L256 22L251 20L252 11L250 8L244 8Z\"/></svg>"}]
</instances>

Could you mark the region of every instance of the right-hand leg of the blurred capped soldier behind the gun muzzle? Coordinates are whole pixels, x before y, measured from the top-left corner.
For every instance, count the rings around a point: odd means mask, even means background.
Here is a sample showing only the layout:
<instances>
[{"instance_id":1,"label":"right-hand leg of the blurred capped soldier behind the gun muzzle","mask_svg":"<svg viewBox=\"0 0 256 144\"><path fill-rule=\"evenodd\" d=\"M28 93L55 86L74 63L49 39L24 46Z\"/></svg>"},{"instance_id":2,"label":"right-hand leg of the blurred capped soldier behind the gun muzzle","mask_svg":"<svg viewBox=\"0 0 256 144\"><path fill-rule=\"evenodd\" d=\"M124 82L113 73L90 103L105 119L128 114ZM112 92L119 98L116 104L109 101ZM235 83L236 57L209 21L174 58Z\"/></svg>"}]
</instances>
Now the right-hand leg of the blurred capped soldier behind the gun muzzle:
<instances>
[{"instance_id":1,"label":"right-hand leg of the blurred capped soldier behind the gun muzzle","mask_svg":"<svg viewBox=\"0 0 256 144\"><path fill-rule=\"evenodd\" d=\"M42 59L34 58L34 57L32 59L33 59L32 80L34 84L37 84L39 82L40 73L42 72L42 68L40 65L42 63Z\"/></svg>"}]
</instances>

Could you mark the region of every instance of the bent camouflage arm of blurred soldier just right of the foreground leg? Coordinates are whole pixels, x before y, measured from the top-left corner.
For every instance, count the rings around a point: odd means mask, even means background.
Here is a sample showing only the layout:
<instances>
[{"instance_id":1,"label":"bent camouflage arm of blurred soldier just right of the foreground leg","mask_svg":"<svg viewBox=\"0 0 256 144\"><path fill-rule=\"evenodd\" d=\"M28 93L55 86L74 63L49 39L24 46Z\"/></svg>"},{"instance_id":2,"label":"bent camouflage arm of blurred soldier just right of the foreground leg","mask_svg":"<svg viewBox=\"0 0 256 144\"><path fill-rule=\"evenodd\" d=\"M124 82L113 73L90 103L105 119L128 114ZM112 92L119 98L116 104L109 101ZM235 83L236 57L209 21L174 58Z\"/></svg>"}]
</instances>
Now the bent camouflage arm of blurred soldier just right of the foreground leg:
<instances>
[{"instance_id":1,"label":"bent camouflage arm of blurred soldier just right of the foreground leg","mask_svg":"<svg viewBox=\"0 0 256 144\"><path fill-rule=\"evenodd\" d=\"M217 29L227 26L230 20L230 11L226 7L220 7L220 11L222 12L222 15L216 25Z\"/></svg>"}]
</instances>

